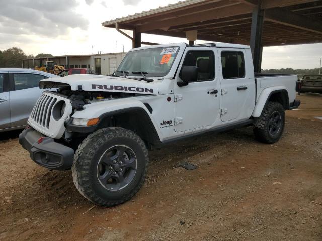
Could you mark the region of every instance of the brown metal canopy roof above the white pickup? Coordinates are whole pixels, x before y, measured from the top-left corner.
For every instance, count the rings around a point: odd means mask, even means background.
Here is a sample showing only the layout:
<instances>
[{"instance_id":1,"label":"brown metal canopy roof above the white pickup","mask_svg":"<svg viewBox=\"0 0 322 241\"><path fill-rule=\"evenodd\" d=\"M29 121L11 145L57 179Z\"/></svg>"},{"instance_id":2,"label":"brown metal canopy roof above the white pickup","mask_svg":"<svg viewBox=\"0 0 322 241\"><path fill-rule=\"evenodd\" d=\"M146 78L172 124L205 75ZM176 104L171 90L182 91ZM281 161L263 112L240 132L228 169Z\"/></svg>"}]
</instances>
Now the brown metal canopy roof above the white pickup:
<instances>
[{"instance_id":1,"label":"brown metal canopy roof above the white pickup","mask_svg":"<svg viewBox=\"0 0 322 241\"><path fill-rule=\"evenodd\" d=\"M102 23L104 27L199 40L250 43L252 12L261 0L187 0ZM322 42L322 1L262 0L263 46Z\"/></svg>"}]
</instances>

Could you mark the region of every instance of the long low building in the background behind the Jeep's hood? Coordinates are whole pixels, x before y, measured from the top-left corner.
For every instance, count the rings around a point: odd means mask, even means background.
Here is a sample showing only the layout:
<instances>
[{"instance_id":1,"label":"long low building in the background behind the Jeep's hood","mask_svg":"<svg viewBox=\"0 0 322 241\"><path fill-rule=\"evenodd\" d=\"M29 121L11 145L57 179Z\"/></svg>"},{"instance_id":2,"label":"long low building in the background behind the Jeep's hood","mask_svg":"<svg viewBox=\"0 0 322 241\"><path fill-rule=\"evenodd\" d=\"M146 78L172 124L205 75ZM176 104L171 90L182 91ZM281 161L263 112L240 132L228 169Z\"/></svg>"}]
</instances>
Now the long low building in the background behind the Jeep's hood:
<instances>
[{"instance_id":1,"label":"long low building in the background behind the Jeep's hood","mask_svg":"<svg viewBox=\"0 0 322 241\"><path fill-rule=\"evenodd\" d=\"M112 74L126 53L108 53L108 54L88 54L88 55L62 55L43 58L23 59L23 68L34 68L43 66L45 61L54 61L57 65L65 68L89 68L95 70L97 74Z\"/></svg>"}]
</instances>

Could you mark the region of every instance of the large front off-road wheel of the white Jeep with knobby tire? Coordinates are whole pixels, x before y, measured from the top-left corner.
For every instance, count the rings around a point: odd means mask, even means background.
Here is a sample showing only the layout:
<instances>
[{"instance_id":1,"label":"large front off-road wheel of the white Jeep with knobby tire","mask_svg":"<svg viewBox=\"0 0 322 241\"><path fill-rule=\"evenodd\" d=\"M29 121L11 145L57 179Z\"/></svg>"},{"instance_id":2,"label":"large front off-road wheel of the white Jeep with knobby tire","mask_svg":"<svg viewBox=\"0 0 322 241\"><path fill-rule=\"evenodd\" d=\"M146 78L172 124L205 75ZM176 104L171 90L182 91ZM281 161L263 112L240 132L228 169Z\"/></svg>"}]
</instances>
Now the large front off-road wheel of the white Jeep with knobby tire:
<instances>
[{"instance_id":1,"label":"large front off-road wheel of the white Jeep with knobby tire","mask_svg":"<svg viewBox=\"0 0 322 241\"><path fill-rule=\"evenodd\" d=\"M100 129L79 145L71 168L73 182L85 198L110 207L131 199L142 187L148 152L134 132Z\"/></svg>"}]
</instances>

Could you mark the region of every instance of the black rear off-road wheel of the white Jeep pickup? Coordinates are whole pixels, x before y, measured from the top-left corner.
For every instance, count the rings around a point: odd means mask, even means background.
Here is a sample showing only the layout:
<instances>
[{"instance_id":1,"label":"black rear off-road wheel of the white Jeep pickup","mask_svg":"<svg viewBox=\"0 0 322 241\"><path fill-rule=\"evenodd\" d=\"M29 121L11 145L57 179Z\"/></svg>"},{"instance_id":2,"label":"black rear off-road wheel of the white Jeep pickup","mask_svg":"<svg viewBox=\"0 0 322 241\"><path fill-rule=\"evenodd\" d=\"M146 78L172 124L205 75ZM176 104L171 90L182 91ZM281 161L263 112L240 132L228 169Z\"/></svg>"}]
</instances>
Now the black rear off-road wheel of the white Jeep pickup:
<instances>
[{"instance_id":1,"label":"black rear off-road wheel of the white Jeep pickup","mask_svg":"<svg viewBox=\"0 0 322 241\"><path fill-rule=\"evenodd\" d=\"M277 142L285 126L285 110L278 102L268 102L262 115L254 120L254 135L263 143Z\"/></svg>"}]
</instances>

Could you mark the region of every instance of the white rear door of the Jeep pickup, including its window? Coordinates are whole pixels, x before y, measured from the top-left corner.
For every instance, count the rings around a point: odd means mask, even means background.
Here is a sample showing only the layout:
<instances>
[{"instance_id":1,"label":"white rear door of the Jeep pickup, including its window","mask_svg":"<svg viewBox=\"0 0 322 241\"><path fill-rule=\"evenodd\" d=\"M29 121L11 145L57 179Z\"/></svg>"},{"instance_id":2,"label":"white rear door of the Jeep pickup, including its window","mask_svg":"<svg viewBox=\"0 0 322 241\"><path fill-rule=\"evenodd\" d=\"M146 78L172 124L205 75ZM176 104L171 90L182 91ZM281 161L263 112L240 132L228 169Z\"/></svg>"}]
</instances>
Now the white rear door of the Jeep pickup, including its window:
<instances>
[{"instance_id":1,"label":"white rear door of the Jeep pickup, including its window","mask_svg":"<svg viewBox=\"0 0 322 241\"><path fill-rule=\"evenodd\" d=\"M245 49L219 48L221 58L221 121L239 121L252 115L255 105L255 81L250 76L251 61ZM249 57L249 56L248 56Z\"/></svg>"}]
</instances>

